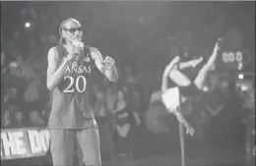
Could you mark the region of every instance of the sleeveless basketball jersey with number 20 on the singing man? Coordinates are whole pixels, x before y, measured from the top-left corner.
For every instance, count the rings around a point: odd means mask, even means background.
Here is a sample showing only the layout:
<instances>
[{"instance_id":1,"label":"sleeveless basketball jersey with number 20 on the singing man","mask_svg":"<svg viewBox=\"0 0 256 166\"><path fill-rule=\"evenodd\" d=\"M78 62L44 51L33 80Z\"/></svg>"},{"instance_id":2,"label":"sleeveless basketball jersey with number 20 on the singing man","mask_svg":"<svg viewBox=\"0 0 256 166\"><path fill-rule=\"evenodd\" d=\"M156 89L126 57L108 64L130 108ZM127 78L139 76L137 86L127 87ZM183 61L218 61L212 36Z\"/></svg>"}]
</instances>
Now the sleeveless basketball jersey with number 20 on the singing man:
<instances>
[{"instance_id":1,"label":"sleeveless basketball jersey with number 20 on the singing man","mask_svg":"<svg viewBox=\"0 0 256 166\"><path fill-rule=\"evenodd\" d=\"M58 50L57 68L64 59L60 56L62 50L59 47ZM66 76L53 89L49 129L84 129L96 126L88 89L94 68L95 62L89 47L85 47L84 53L67 65Z\"/></svg>"}]
</instances>

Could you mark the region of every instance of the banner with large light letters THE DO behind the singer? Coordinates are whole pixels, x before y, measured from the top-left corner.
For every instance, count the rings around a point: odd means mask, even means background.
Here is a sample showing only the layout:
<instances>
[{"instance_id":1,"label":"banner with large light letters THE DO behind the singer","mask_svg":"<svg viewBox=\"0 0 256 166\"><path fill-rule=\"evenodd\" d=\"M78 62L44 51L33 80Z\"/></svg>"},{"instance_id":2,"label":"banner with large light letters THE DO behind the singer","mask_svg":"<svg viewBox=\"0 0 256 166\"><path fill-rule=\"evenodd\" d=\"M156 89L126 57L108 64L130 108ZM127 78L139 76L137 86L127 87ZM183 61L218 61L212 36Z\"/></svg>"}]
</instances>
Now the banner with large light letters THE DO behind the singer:
<instances>
[{"instance_id":1,"label":"banner with large light letters THE DO behind the singer","mask_svg":"<svg viewBox=\"0 0 256 166\"><path fill-rule=\"evenodd\" d=\"M49 141L45 128L1 129L1 160L44 156Z\"/></svg>"}]
</instances>

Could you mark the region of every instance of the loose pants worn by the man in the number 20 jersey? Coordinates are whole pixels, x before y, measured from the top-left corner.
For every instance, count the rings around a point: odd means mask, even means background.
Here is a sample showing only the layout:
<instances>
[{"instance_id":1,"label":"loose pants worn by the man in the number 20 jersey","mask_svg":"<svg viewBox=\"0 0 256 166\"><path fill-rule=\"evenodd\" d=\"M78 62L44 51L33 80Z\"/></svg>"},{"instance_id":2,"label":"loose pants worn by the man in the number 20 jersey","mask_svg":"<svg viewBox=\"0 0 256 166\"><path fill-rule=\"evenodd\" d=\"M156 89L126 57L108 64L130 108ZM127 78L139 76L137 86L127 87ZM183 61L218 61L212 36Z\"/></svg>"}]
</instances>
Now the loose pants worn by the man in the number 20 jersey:
<instances>
[{"instance_id":1,"label":"loose pants worn by the man in the number 20 jersey","mask_svg":"<svg viewBox=\"0 0 256 166\"><path fill-rule=\"evenodd\" d=\"M50 138L53 166L76 165L73 156L79 165L101 166L98 129L50 130Z\"/></svg>"}]
</instances>

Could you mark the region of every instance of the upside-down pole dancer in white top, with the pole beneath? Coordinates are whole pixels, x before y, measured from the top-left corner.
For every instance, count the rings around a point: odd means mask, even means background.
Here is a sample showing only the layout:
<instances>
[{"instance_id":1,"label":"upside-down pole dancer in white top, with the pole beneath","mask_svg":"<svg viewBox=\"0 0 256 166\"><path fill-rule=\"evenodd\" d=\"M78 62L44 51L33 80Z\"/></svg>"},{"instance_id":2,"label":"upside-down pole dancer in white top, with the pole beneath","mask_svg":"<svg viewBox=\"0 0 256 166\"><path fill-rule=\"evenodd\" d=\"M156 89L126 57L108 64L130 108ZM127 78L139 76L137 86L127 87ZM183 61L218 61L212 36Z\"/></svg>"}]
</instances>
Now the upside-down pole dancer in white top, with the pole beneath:
<instances>
[{"instance_id":1,"label":"upside-down pole dancer in white top, with the pole beneath","mask_svg":"<svg viewBox=\"0 0 256 166\"><path fill-rule=\"evenodd\" d=\"M180 146L181 146L181 163L185 166L185 144L184 144L184 131L183 126L186 128L186 132L191 136L194 135L194 129L191 127L186 119L181 114L180 106L184 104L189 99L194 96L201 95L204 91L203 87L206 83L209 71L213 69L215 61L220 50L219 39L216 42L214 51L207 61L207 63L199 71L196 79L191 81L181 70L192 67L195 68L198 64L203 61L203 58L191 60L188 62L181 62L180 57L176 56L166 67L162 75L161 92L162 92L162 102L170 113L173 113L177 120L179 121L179 136L180 136ZM169 79L176 84L176 86L169 88Z\"/></svg>"}]
</instances>

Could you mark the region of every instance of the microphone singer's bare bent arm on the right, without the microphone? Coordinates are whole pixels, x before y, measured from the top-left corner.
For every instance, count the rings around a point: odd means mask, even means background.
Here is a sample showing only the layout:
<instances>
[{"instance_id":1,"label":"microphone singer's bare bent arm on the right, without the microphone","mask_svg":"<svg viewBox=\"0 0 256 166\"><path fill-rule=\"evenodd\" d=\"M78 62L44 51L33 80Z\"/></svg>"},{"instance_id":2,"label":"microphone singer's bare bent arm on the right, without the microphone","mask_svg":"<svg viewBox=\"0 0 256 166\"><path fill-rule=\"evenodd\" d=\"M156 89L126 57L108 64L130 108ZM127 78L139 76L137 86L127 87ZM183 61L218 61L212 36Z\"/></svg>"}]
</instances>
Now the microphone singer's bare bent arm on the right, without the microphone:
<instances>
[{"instance_id":1,"label":"microphone singer's bare bent arm on the right, without the microphone","mask_svg":"<svg viewBox=\"0 0 256 166\"><path fill-rule=\"evenodd\" d=\"M118 73L115 65L110 68L106 68L102 55L96 48L92 48L92 57L96 62L96 68L103 74L110 82L116 83L118 79Z\"/></svg>"}]
</instances>

